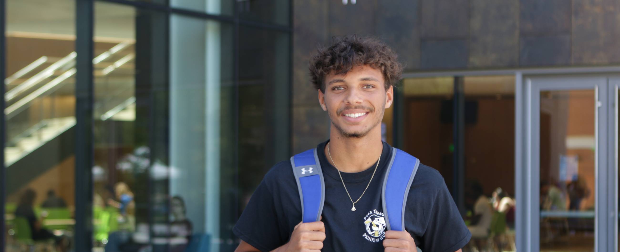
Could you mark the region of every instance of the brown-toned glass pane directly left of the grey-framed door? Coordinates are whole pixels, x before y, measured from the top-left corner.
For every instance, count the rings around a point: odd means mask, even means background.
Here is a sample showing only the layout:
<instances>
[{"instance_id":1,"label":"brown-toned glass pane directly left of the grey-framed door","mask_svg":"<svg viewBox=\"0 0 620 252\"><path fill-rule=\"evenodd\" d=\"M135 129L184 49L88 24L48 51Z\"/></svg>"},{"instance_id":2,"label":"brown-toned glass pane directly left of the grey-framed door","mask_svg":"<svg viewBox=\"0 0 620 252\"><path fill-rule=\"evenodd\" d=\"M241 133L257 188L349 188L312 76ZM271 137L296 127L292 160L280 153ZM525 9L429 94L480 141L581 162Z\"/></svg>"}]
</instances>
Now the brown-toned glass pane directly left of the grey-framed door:
<instances>
[{"instance_id":1,"label":"brown-toned glass pane directly left of the grey-framed door","mask_svg":"<svg viewBox=\"0 0 620 252\"><path fill-rule=\"evenodd\" d=\"M464 77L463 90L469 246L516 251L515 76Z\"/></svg>"}]
</instances>

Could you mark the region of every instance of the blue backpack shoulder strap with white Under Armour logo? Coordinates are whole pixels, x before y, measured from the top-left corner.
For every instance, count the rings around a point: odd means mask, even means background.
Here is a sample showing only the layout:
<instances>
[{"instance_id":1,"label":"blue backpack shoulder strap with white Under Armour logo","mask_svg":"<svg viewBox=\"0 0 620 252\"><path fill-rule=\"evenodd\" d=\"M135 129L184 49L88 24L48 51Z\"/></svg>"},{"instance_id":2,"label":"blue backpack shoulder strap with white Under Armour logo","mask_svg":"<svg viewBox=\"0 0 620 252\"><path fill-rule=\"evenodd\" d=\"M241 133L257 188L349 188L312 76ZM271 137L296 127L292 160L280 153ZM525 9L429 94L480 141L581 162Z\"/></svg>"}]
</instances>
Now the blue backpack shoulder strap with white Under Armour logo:
<instances>
[{"instance_id":1,"label":"blue backpack shoulder strap with white Under Armour logo","mask_svg":"<svg viewBox=\"0 0 620 252\"><path fill-rule=\"evenodd\" d=\"M291 166L301 199L303 222L316 222L321 217L325 201L325 183L316 149L291 157Z\"/></svg>"}]
</instances>

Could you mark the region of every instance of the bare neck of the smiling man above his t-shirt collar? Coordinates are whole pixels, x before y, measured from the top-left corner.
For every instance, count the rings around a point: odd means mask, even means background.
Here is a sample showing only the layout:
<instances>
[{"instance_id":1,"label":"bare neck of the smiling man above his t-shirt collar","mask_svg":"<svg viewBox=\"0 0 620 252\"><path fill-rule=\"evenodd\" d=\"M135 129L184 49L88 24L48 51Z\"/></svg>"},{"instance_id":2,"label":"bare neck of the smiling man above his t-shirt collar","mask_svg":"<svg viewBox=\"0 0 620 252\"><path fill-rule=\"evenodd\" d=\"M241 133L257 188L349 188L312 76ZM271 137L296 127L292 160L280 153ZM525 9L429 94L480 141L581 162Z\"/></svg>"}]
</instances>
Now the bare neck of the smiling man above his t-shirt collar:
<instances>
[{"instance_id":1,"label":"bare neck of the smiling man above his t-shirt collar","mask_svg":"<svg viewBox=\"0 0 620 252\"><path fill-rule=\"evenodd\" d=\"M327 147L325 147L327 161L334 165L334 167L337 167L340 172L355 173L362 172L371 166L374 168L379 156L383 152L380 129L376 127L366 136L355 138L343 137L332 126L328 143L329 152Z\"/></svg>"}]
</instances>

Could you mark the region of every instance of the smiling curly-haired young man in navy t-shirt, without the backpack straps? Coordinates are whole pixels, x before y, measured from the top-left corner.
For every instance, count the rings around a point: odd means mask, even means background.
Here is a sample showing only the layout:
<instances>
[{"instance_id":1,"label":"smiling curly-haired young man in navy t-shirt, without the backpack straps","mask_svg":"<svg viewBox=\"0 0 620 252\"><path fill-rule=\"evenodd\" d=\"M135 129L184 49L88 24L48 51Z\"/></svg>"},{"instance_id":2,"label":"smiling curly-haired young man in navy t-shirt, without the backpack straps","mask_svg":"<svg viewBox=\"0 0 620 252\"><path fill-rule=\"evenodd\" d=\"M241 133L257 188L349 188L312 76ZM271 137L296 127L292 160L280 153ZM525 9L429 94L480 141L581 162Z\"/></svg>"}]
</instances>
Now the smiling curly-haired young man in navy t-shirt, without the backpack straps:
<instances>
[{"instance_id":1,"label":"smiling curly-haired young man in navy t-shirt, without the backpack straps","mask_svg":"<svg viewBox=\"0 0 620 252\"><path fill-rule=\"evenodd\" d=\"M386 230L381 186L392 149L381 141L381 120L401 78L396 57L381 41L354 35L311 59L312 83L331 121L330 139L317 146L325 180L321 221L301 223L285 160L265 175L235 225L242 240L236 251L453 252L467 244L471 233L443 178L422 164L407 197L406 231Z\"/></svg>"}]
</instances>

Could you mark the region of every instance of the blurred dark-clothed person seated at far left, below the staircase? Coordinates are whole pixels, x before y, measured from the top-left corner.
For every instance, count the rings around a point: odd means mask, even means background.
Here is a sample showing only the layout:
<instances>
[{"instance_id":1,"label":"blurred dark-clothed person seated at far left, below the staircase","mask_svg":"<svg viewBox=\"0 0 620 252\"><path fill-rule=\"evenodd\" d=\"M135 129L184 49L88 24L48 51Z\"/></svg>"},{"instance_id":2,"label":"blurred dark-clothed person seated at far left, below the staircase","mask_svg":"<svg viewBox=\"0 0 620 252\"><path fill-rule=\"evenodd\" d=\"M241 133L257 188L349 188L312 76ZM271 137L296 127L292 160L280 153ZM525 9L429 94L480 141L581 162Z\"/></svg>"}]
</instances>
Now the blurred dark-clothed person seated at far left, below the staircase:
<instances>
[{"instance_id":1,"label":"blurred dark-clothed person seated at far left, below the staircase","mask_svg":"<svg viewBox=\"0 0 620 252\"><path fill-rule=\"evenodd\" d=\"M37 193L32 189L26 189L19 198L19 203L15 209L15 217L22 217L28 221L30 227L30 235L34 241L54 240L56 247L60 251L68 251L68 239L60 235L54 235L53 232L42 227L42 220L37 218L33 205Z\"/></svg>"}]
</instances>

